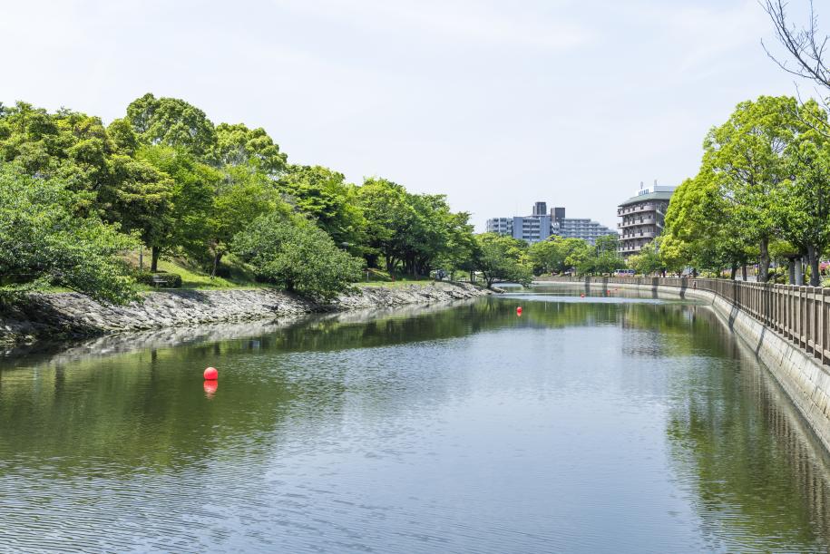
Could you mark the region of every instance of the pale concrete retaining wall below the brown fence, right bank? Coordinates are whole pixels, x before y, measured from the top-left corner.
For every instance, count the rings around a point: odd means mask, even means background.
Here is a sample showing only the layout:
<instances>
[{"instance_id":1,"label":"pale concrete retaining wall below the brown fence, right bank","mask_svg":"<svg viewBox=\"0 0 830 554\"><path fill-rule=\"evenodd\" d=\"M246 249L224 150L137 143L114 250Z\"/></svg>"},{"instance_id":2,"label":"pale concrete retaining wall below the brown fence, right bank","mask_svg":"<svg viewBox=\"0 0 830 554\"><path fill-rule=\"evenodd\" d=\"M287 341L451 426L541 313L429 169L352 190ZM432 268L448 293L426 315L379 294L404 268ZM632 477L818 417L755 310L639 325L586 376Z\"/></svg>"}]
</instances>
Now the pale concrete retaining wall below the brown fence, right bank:
<instances>
[{"instance_id":1,"label":"pale concrete retaining wall below the brown fence, right bank","mask_svg":"<svg viewBox=\"0 0 830 554\"><path fill-rule=\"evenodd\" d=\"M552 283L544 285L584 286L584 283ZM598 281L591 289L629 288L648 291L659 298L689 298L703 301L713 308L718 318L755 352L758 359L776 378L796 409L804 416L825 451L830 452L830 373L813 355L794 345L773 329L734 306L715 293L692 288L634 285Z\"/></svg>"}]
</instances>

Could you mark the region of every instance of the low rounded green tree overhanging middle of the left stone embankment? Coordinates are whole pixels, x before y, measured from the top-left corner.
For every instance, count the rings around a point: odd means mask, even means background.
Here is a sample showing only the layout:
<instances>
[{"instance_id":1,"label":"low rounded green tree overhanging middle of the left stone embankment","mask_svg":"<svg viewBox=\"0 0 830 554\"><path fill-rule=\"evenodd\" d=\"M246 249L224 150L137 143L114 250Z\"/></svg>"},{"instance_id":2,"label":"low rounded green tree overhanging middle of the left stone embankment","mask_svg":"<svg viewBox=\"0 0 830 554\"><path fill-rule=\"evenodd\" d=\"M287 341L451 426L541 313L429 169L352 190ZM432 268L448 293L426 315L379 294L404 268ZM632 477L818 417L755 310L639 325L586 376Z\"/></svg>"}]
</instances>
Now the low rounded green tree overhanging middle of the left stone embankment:
<instances>
[{"instance_id":1,"label":"low rounded green tree overhanging middle of the left stone embankment","mask_svg":"<svg viewBox=\"0 0 830 554\"><path fill-rule=\"evenodd\" d=\"M312 222L277 211L240 232L232 249L260 279L321 299L337 296L359 280L363 267L360 258L337 248Z\"/></svg>"}]
</instances>

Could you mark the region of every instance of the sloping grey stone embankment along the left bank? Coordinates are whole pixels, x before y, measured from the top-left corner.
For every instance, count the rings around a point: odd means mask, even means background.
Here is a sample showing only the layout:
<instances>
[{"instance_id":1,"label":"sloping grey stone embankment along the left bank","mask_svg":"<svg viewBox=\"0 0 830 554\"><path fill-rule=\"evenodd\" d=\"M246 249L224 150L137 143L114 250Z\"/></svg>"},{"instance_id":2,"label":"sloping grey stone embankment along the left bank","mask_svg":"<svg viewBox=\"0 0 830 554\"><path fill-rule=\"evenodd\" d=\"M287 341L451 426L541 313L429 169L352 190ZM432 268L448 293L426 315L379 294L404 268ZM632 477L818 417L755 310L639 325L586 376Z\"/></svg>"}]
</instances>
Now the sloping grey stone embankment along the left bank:
<instances>
[{"instance_id":1,"label":"sloping grey stone embankment along the left bank","mask_svg":"<svg viewBox=\"0 0 830 554\"><path fill-rule=\"evenodd\" d=\"M32 343L219 322L264 321L314 312L432 304L489 291L466 284L433 283L408 287L356 287L333 302L269 288L152 292L142 302L106 306L75 293L32 295L0 312L0 344Z\"/></svg>"}]
</instances>

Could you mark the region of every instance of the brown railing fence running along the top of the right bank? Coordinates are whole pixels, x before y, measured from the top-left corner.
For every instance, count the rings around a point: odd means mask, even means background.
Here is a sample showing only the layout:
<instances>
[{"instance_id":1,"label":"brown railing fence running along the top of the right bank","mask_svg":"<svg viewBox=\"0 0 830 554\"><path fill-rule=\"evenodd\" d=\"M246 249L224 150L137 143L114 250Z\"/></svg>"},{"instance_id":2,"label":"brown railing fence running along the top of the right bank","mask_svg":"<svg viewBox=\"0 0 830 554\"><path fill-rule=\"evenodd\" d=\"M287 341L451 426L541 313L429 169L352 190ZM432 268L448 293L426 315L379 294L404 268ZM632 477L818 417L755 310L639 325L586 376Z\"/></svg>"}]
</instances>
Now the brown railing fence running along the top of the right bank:
<instances>
[{"instance_id":1,"label":"brown railing fence running along the top of the right bank","mask_svg":"<svg viewBox=\"0 0 830 554\"><path fill-rule=\"evenodd\" d=\"M830 364L830 290L825 288L688 277L548 277L546 280L705 290L814 355L822 364Z\"/></svg>"}]
</instances>

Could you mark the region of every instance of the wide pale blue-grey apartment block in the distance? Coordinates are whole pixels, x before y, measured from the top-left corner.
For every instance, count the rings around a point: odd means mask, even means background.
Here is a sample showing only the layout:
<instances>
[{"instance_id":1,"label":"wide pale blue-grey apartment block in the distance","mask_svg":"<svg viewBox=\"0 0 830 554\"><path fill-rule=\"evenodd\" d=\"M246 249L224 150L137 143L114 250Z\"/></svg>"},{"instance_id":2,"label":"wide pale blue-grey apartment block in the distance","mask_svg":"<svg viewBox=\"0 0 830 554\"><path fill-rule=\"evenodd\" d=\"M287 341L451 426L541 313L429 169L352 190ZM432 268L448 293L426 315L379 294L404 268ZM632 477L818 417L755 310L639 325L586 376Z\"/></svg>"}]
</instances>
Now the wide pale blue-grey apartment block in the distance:
<instances>
[{"instance_id":1,"label":"wide pale blue-grey apartment block in the distance","mask_svg":"<svg viewBox=\"0 0 830 554\"><path fill-rule=\"evenodd\" d=\"M530 243L559 235L562 238L581 238L593 244L598 237L616 235L610 228L591 219L566 218L564 208L552 208L550 213L547 211L546 202L536 202L529 216L487 219L487 232L522 238Z\"/></svg>"}]
</instances>

